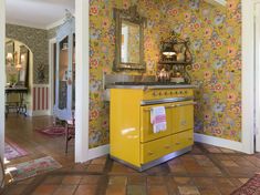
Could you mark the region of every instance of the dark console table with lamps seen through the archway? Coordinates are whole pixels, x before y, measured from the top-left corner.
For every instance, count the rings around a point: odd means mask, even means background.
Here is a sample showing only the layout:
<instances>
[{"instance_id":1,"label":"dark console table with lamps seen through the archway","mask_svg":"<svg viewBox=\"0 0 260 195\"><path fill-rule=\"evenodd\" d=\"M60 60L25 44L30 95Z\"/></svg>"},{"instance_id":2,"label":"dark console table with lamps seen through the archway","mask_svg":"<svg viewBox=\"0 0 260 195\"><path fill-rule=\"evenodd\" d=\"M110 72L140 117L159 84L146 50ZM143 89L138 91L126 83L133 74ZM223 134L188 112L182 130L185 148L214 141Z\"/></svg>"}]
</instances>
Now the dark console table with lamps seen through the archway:
<instances>
[{"instance_id":1,"label":"dark console table with lamps seen through the archway","mask_svg":"<svg viewBox=\"0 0 260 195\"><path fill-rule=\"evenodd\" d=\"M11 93L19 94L19 102L8 102L8 95ZM27 104L24 103L23 95L28 93L28 88L24 86L13 86L6 88L6 116L9 114L9 109L15 109L17 113L27 116Z\"/></svg>"}]
</instances>

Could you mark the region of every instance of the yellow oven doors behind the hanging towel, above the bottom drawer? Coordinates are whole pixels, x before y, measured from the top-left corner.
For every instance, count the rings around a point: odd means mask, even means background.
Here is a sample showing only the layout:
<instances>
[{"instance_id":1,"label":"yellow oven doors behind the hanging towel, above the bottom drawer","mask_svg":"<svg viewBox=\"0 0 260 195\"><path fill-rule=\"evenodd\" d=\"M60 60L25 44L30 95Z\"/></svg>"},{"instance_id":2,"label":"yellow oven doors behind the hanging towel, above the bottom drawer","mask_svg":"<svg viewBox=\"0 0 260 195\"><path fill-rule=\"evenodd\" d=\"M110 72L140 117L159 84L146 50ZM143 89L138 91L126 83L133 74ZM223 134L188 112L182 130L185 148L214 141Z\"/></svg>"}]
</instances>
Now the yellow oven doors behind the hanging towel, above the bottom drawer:
<instances>
[{"instance_id":1,"label":"yellow oven doors behind the hanging towel, above the bottom drawer","mask_svg":"<svg viewBox=\"0 0 260 195\"><path fill-rule=\"evenodd\" d=\"M141 142L149 142L194 129L194 101L183 101L141 106ZM165 106L166 110L167 129L158 133L154 133L150 123L150 110L156 106Z\"/></svg>"}]
</instances>

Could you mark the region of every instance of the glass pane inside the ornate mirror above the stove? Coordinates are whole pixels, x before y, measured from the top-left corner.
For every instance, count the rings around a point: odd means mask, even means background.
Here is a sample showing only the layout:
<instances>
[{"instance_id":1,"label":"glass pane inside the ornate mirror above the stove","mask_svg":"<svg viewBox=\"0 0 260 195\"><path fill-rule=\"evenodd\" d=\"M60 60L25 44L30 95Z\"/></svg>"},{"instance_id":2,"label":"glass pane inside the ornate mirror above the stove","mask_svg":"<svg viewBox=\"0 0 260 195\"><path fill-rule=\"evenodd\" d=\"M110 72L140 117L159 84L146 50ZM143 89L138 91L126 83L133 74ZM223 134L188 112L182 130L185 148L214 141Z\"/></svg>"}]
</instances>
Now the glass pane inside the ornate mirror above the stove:
<instances>
[{"instance_id":1,"label":"glass pane inside the ornate mirror above the stove","mask_svg":"<svg viewBox=\"0 0 260 195\"><path fill-rule=\"evenodd\" d=\"M121 40L121 62L141 63L139 61L139 24L123 20Z\"/></svg>"}]
</instances>

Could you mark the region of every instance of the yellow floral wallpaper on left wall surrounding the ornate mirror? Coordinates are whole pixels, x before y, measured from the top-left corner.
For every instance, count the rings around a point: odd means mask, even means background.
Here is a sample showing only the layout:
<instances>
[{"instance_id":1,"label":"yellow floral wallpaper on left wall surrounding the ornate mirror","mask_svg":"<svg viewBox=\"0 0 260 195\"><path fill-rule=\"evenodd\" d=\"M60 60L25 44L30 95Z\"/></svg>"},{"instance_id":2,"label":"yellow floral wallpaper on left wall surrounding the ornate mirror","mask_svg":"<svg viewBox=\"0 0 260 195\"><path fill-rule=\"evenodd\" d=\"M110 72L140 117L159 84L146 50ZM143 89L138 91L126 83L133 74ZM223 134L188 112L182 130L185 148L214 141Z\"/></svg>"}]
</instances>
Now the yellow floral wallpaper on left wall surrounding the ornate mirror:
<instances>
[{"instance_id":1,"label":"yellow floral wallpaper on left wall surrounding the ornate mirror","mask_svg":"<svg viewBox=\"0 0 260 195\"><path fill-rule=\"evenodd\" d=\"M168 29L162 25L159 1L146 0L92 0L90 6L90 147L107 144L110 141L110 104L104 102L103 72L112 73L115 52L115 23L113 8L127 9L138 4L138 12L148 19L145 29L146 74L154 74L159 57L159 42ZM124 73L138 74L126 71Z\"/></svg>"}]
</instances>

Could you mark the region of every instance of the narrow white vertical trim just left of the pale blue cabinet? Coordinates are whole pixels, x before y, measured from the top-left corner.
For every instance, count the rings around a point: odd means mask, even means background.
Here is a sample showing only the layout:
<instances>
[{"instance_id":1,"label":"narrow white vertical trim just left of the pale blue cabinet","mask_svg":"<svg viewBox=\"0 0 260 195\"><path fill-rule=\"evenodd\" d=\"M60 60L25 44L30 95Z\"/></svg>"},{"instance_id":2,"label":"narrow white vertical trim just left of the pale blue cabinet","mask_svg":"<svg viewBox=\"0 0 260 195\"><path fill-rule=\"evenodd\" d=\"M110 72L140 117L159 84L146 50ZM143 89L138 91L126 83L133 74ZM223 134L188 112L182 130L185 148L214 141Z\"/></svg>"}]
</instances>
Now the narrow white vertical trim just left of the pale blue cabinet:
<instances>
[{"instance_id":1,"label":"narrow white vertical trim just left of the pale blue cabinet","mask_svg":"<svg viewBox=\"0 0 260 195\"><path fill-rule=\"evenodd\" d=\"M56 39L50 39L49 40L49 115L53 115L53 88L54 88L54 81L53 81L53 73L54 73L54 43L56 42Z\"/></svg>"}]
</instances>

